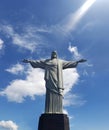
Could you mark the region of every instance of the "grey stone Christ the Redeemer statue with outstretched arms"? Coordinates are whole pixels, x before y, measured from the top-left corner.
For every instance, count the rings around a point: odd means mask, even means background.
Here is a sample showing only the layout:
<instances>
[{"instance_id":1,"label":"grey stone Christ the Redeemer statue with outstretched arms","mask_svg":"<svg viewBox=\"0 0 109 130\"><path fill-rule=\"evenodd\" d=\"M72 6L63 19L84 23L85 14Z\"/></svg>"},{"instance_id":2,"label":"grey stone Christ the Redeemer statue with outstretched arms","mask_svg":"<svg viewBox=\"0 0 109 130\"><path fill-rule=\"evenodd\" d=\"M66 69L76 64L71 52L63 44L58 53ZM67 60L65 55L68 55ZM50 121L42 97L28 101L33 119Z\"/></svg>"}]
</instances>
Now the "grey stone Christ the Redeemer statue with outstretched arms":
<instances>
[{"instance_id":1,"label":"grey stone Christ the Redeemer statue with outstretched arms","mask_svg":"<svg viewBox=\"0 0 109 130\"><path fill-rule=\"evenodd\" d=\"M79 61L65 61L57 58L56 51L53 51L50 59L46 60L26 60L24 63L30 63L33 68L41 68L45 70L45 113L62 113L63 112L63 74L62 70L67 68L75 68Z\"/></svg>"}]
</instances>

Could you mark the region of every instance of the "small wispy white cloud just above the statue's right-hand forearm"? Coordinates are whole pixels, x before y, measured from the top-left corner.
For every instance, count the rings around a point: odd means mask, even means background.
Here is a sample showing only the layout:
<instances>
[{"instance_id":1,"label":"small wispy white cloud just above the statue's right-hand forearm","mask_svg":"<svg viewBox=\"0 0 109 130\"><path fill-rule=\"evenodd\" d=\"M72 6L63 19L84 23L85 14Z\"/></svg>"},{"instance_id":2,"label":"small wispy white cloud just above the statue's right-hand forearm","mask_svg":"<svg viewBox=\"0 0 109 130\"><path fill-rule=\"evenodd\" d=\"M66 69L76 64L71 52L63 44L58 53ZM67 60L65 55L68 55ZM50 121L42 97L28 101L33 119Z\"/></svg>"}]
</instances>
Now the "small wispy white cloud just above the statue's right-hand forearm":
<instances>
[{"instance_id":1,"label":"small wispy white cloud just above the statue's right-hand forearm","mask_svg":"<svg viewBox=\"0 0 109 130\"><path fill-rule=\"evenodd\" d=\"M80 59L82 55L78 52L78 48L76 46L69 45L68 50L73 54L74 59Z\"/></svg>"}]
</instances>

